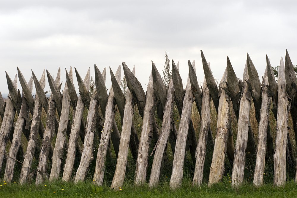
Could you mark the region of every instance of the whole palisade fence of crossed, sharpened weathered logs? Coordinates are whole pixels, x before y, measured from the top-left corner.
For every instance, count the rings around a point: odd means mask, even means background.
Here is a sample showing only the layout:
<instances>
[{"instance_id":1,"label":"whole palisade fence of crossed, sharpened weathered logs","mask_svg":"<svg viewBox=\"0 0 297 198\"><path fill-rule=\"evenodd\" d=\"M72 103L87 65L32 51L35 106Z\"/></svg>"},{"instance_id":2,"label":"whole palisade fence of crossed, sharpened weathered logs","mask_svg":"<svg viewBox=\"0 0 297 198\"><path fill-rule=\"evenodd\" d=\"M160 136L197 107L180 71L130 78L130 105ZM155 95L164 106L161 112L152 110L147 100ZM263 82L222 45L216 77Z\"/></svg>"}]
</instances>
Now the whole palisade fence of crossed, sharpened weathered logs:
<instances>
[{"instance_id":1,"label":"whole palisade fence of crossed, sharpened weathered logs","mask_svg":"<svg viewBox=\"0 0 297 198\"><path fill-rule=\"evenodd\" d=\"M35 181L40 184L45 180L53 181L59 178L76 183L83 181L91 170L94 175L92 182L102 185L106 159L110 155L112 144L117 158L112 189L119 189L124 184L129 150L136 164L135 184L141 185L148 181L149 186L156 186L168 158L168 148L174 154L170 188L176 189L181 185L188 150L193 162L193 185L200 185L203 181L207 147L212 152L209 186L222 181L223 175L226 175L227 161L232 170L230 182L234 188L238 188L244 182L247 160L252 163L249 167L253 167L255 186L263 184L267 160L274 164L274 185L284 185L286 168L294 172L296 162L292 140L288 135L289 112L297 138L296 75L288 52L286 51L285 63L282 58L280 60L278 83L267 55L262 83L247 54L242 80L236 77L227 57L227 67L218 85L202 51L201 57L205 74L203 85L198 84L195 61L188 61L189 75L185 89L178 72L179 64L175 65L172 60L172 78L166 88L152 62L146 93L135 77L135 67L131 72L123 62L128 87L126 96L120 88L121 65L115 75L110 69L112 87L109 89L109 95L105 87L106 68L101 73L96 65L95 88L91 94L90 69L84 80L75 69L79 96L73 85L72 68L69 73L66 70L67 81L62 94L60 69L55 80L46 71L51 90L49 98L43 90L45 71L39 81L32 71L32 77L27 83L18 69L22 95L16 87L17 75L12 80L6 73L9 88L6 102L0 94L1 177L7 183L18 181L23 184ZM36 88L35 97L31 94L33 85ZM211 120L211 100L217 112L217 120ZM200 131L194 130L195 123L191 118L194 101L200 114ZM137 134L132 123L135 105L143 120L140 134ZM253 131L250 124L251 105L255 109L257 131ZM46 113L45 126L41 122L42 108ZM86 120L83 118L85 108L88 109ZM178 127L173 119L174 108L181 117ZM72 109L72 118L69 119ZM117 110L121 118L121 132L115 121ZM271 134L271 123L268 119L270 110L277 120L275 138ZM15 122L16 113L18 117ZM235 115L236 128L231 128L231 122L234 122L231 115ZM157 125L156 117L162 120L161 128ZM216 131L211 130L211 122L217 123ZM237 134L236 137L233 134ZM257 134L257 142L254 134ZM94 157L96 136L99 146L97 157ZM22 137L27 140L25 143ZM153 139L155 141L152 141ZM7 144L9 141L10 144ZM153 145L152 142L156 144ZM153 152L150 153L150 150ZM152 163L149 163L149 158ZM32 167L34 159L38 161L37 168ZM96 163L93 163L94 167L91 168L91 162L95 159ZM75 161L79 163L76 168ZM18 178L14 176L16 169L19 171ZM151 169L150 178L147 178L148 169Z\"/></svg>"}]
</instances>

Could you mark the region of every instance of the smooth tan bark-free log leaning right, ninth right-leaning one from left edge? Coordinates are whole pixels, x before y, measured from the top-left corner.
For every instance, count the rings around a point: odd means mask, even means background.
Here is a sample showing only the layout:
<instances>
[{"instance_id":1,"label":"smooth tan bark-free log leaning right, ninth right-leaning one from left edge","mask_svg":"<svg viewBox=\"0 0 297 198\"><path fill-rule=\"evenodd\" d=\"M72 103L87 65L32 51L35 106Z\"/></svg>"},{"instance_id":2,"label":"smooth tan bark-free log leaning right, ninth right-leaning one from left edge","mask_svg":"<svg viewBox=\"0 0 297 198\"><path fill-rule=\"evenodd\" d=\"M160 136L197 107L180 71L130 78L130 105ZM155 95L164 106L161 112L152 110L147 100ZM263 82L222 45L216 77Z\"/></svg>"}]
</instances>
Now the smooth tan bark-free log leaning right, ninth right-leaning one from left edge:
<instances>
[{"instance_id":1,"label":"smooth tan bark-free log leaning right, ninth right-leaning one from left edge","mask_svg":"<svg viewBox=\"0 0 297 198\"><path fill-rule=\"evenodd\" d=\"M135 67L133 68L132 73L135 75ZM132 133L134 105L135 104L134 104L133 96L131 92L127 90L125 109L124 109L124 115L123 115L124 119L123 119L122 133L121 133L121 141L120 141L120 148L119 148L119 157L116 162L116 171L114 173L113 181L110 187L115 190L119 189L119 187L123 186L124 184L125 173L126 173L125 170L126 170L127 157L128 157L128 145L129 145L129 140L131 141L130 135Z\"/></svg>"}]
</instances>

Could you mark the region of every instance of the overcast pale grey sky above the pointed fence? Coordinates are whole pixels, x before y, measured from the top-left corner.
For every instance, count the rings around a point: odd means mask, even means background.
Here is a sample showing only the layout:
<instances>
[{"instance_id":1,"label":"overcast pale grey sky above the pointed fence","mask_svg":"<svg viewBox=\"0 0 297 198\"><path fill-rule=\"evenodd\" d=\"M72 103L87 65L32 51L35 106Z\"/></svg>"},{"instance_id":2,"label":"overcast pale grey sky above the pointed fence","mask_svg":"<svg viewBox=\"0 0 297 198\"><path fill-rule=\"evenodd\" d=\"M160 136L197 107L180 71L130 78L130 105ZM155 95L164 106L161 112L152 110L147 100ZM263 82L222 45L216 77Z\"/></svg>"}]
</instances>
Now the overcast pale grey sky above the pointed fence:
<instances>
[{"instance_id":1,"label":"overcast pale grey sky above the pointed fence","mask_svg":"<svg viewBox=\"0 0 297 198\"><path fill-rule=\"evenodd\" d=\"M0 2L2 93L8 93L5 71L14 78L17 67L26 80L31 69L40 78L43 69L56 76L61 67L61 81L65 82L65 68L70 66L84 78L88 67L94 77L94 64L101 72L104 67L115 72L121 62L130 69L136 65L136 77L146 90L151 60L162 73L165 50L169 59L180 62L184 86L188 59L195 60L198 81L203 81L200 50L218 80L227 56L240 78L247 52L260 77L266 54L271 65L277 66L288 49L293 64L297 64L296 1Z\"/></svg>"}]
</instances>

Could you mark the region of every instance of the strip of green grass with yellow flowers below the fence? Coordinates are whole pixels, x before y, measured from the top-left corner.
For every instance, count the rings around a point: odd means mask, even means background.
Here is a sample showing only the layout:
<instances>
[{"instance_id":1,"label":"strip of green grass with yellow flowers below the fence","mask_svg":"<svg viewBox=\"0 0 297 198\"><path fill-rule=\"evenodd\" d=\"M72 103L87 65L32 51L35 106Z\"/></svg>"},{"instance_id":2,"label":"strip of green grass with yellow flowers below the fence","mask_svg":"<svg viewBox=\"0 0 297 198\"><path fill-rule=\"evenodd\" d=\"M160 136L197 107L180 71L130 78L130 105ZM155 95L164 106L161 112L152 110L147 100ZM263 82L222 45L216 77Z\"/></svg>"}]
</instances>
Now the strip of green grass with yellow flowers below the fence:
<instances>
[{"instance_id":1,"label":"strip of green grass with yellow flowers below the fence","mask_svg":"<svg viewBox=\"0 0 297 198\"><path fill-rule=\"evenodd\" d=\"M281 188L265 184L256 188L252 183L244 183L238 190L232 189L228 178L211 188L204 183L200 187L192 187L192 181L185 179L181 188L172 191L168 181L163 181L160 186L150 189L147 185L134 186L127 182L122 190L112 190L109 186L94 186L91 182L70 183L51 182L39 186L34 184L19 185L17 183L1 183L0 197L296 197L297 184L288 181ZM64 189L64 190L62 190Z\"/></svg>"}]
</instances>

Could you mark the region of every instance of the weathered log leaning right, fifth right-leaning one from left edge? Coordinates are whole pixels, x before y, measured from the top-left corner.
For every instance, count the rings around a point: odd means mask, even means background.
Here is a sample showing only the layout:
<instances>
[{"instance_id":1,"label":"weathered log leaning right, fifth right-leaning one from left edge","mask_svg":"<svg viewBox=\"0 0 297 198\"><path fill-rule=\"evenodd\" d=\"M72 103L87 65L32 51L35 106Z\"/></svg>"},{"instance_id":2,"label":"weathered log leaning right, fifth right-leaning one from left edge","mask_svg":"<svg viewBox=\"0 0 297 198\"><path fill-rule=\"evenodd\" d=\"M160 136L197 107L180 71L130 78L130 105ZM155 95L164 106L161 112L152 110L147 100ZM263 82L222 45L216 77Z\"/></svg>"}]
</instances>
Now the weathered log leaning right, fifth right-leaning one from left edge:
<instances>
[{"instance_id":1,"label":"weathered log leaning right, fifth right-leaning one from left edge","mask_svg":"<svg viewBox=\"0 0 297 198\"><path fill-rule=\"evenodd\" d=\"M48 73L48 78L52 78L50 76L50 74ZM70 72L69 72L69 78L70 78L70 82L72 82L72 67L70 67ZM63 91L63 97L62 97L62 101L61 101L61 93L59 90L57 90L54 86L54 84L52 83L53 81L50 80L49 82L51 82L51 87L53 88L54 91L52 91L53 95L55 95L55 101L57 105L57 107L59 106L60 108L60 104L61 104L61 116L60 116L60 122L59 122L59 128L58 128L58 133L57 133L57 137L56 137L56 144L55 144L55 148L54 148L54 152L53 152L53 157L52 157L52 168L50 171L50 181L53 181L55 179L59 178L60 175L60 171L61 171L61 164L62 164L62 160L63 160L63 156L64 156L64 146L67 143L66 142L66 131L67 131L67 125L69 123L69 112L70 112L70 95L68 92L68 86L67 83L65 84L64 87L64 91ZM55 92L55 94L54 94ZM70 125L71 126L71 125Z\"/></svg>"}]
</instances>

